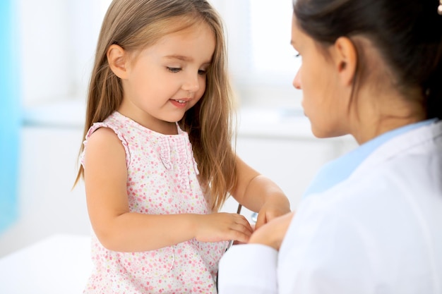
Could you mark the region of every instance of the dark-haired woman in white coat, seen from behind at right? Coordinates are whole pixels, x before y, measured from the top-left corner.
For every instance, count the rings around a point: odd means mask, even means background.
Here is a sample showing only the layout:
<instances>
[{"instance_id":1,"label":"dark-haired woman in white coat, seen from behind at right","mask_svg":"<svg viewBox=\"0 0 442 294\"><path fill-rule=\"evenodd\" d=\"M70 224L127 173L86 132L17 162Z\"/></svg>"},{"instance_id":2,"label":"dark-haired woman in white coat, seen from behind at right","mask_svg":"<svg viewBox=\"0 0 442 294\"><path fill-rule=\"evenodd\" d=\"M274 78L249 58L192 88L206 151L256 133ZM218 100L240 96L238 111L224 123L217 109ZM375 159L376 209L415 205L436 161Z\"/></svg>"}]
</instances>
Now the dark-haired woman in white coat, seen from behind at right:
<instances>
[{"instance_id":1,"label":"dark-haired woman in white coat, seen from behind at right","mask_svg":"<svg viewBox=\"0 0 442 294\"><path fill-rule=\"evenodd\" d=\"M442 0L297 0L316 137L359 147L220 262L220 294L442 293Z\"/></svg>"}]
</instances>

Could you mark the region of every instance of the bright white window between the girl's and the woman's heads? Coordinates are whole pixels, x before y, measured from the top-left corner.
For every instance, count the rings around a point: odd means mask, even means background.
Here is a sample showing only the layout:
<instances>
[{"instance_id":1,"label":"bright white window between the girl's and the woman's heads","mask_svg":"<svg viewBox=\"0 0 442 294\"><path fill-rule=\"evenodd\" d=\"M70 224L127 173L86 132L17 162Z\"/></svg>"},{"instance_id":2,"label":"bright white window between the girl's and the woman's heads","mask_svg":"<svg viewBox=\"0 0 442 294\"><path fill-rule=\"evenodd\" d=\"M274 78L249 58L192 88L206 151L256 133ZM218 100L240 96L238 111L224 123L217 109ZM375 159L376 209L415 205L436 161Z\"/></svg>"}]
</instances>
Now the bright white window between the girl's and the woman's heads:
<instances>
[{"instance_id":1,"label":"bright white window between the girl's and the woman's heads","mask_svg":"<svg viewBox=\"0 0 442 294\"><path fill-rule=\"evenodd\" d=\"M290 45L292 1L213 0L225 20L229 68L241 104L299 109L292 80L300 66Z\"/></svg>"}]
</instances>

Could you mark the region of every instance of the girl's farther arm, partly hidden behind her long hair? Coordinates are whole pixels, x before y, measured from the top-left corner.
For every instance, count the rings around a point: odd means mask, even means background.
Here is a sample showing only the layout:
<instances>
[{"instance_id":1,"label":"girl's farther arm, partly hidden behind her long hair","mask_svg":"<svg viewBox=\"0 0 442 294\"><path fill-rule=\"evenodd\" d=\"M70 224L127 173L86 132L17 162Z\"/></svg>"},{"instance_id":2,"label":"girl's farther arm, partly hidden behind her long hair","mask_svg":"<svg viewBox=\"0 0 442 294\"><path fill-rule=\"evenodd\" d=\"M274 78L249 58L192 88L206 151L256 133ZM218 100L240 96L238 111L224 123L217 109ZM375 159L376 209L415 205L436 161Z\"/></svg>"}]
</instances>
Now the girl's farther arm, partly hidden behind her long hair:
<instances>
[{"instance_id":1,"label":"girl's farther arm, partly hidden behind her long hair","mask_svg":"<svg viewBox=\"0 0 442 294\"><path fill-rule=\"evenodd\" d=\"M258 212L255 228L290 212L287 196L276 183L237 157L238 181L232 196L253 212Z\"/></svg>"}]
</instances>

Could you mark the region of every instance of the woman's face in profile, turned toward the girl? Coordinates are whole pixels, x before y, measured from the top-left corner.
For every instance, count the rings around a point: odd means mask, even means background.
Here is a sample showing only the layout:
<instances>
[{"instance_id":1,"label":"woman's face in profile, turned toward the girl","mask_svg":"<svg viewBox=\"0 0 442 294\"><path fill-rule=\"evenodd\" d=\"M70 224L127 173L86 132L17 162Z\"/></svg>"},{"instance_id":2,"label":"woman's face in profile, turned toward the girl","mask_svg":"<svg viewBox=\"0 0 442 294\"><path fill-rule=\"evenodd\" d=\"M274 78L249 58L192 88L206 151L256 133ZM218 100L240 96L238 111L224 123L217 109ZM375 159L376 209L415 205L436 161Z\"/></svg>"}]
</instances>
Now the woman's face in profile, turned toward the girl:
<instances>
[{"instance_id":1,"label":"woman's face in profile, turned toward the girl","mask_svg":"<svg viewBox=\"0 0 442 294\"><path fill-rule=\"evenodd\" d=\"M325 57L314 40L292 22L292 46L302 58L293 85L302 90L304 114L316 137L335 137L347 133L347 104L340 95L333 57Z\"/></svg>"}]
</instances>

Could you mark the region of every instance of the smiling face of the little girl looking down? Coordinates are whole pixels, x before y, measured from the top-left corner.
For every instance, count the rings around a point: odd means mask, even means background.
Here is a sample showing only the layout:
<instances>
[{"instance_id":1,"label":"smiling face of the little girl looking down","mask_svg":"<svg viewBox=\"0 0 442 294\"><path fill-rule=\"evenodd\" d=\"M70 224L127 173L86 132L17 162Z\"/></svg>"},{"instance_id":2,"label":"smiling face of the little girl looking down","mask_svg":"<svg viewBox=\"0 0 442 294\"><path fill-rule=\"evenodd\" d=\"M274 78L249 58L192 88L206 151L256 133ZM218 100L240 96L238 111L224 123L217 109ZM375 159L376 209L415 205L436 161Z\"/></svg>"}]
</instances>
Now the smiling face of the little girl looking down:
<instances>
[{"instance_id":1,"label":"smiling face of the little girl looking down","mask_svg":"<svg viewBox=\"0 0 442 294\"><path fill-rule=\"evenodd\" d=\"M205 92L215 35L205 23L162 37L126 61L119 111L151 130L176 133L175 122Z\"/></svg>"}]
</instances>

